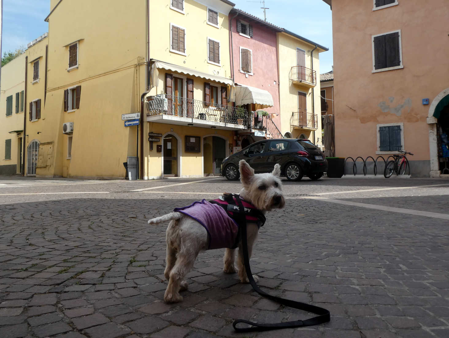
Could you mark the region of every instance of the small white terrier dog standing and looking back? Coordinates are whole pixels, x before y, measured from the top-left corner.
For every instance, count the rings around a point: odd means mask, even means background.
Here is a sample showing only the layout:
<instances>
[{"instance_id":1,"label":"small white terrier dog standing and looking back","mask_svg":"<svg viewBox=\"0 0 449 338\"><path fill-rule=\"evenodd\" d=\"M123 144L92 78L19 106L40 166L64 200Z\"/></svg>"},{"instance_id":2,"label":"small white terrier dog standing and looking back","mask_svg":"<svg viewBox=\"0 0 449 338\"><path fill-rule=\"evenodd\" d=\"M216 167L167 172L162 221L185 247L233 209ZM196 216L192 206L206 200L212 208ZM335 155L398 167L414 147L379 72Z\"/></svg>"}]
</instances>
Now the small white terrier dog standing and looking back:
<instances>
[{"instance_id":1,"label":"small white terrier dog standing and looking back","mask_svg":"<svg viewBox=\"0 0 449 338\"><path fill-rule=\"evenodd\" d=\"M254 170L249 166L245 160L239 162L240 180L243 188L240 190L240 197L242 201L249 202L253 208L258 209L258 212L264 214L266 211L270 211L274 208L282 208L285 204L285 199L282 194L282 182L279 179L281 175L281 167L279 164L274 166L274 170L271 173L254 174ZM218 200L217 200L218 201ZM193 206L202 208L208 205L215 206L220 210L220 213L225 213L229 221L229 226L238 228L235 222L223 211L221 206L211 204L209 202L195 202L189 207L176 208L175 212L172 212L161 217L150 219L149 224L158 224L170 220L166 232L167 241L167 258L166 268L164 276L167 278L168 286L164 294L164 301L166 303L176 303L182 301L182 296L179 291L187 289L187 282L184 277L193 268L194 262L198 253L202 250L211 248L225 247L224 267L223 271L226 273L235 273L234 257L235 249L238 244L238 277L242 283L248 283L248 277L245 271L245 264L243 261L242 243L240 241L240 232L235 232L238 236L235 241L235 245L216 246L211 247L211 237L216 233L213 233L211 228L216 226L216 220L212 219L213 224L204 225L204 222L199 220L198 217L187 214L187 209ZM250 205L251 206L251 205ZM180 211L178 211L180 210ZM247 207L245 206L247 211ZM251 210L251 209L249 209ZM202 212L202 211L198 211ZM215 211L212 211L212 213ZM206 210L203 212L206 214L204 217L209 217L211 211ZM195 218L194 218L195 217ZM218 217L221 217L220 215ZM263 216L262 216L263 217ZM225 217L224 217L225 218ZM226 221L226 220L225 220ZM257 233L259 231L259 225L257 222L248 222L247 220L247 241L248 241L248 255L251 257L253 245L255 243ZM263 222L262 222L263 225ZM220 233L221 230L218 231ZM221 233L229 233L228 230L223 230ZM231 230L232 232L232 230ZM218 239L220 241L220 239ZM229 241L228 241L229 243ZM257 277L255 281L257 281Z\"/></svg>"}]
</instances>

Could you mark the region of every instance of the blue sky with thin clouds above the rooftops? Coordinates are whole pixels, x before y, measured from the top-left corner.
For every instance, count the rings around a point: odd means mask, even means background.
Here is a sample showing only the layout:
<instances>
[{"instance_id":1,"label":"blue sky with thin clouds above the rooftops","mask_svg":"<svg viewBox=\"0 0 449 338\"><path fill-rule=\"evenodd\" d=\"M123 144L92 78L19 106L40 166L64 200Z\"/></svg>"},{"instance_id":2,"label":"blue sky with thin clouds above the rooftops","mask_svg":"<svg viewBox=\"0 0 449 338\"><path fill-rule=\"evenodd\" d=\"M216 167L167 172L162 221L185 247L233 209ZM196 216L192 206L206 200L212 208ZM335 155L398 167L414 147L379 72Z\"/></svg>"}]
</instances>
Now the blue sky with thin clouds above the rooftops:
<instances>
[{"instance_id":1,"label":"blue sky with thin clouds above the rooftops","mask_svg":"<svg viewBox=\"0 0 449 338\"><path fill-rule=\"evenodd\" d=\"M236 8L264 18L264 10L260 9L262 1L231 1ZM328 4L322 0L266 0L265 7L269 8L268 22L329 48L320 53L320 73L332 70L332 12ZM47 32L48 23L44 18L48 13L50 0L3 0L2 53L26 48L29 42Z\"/></svg>"}]
</instances>

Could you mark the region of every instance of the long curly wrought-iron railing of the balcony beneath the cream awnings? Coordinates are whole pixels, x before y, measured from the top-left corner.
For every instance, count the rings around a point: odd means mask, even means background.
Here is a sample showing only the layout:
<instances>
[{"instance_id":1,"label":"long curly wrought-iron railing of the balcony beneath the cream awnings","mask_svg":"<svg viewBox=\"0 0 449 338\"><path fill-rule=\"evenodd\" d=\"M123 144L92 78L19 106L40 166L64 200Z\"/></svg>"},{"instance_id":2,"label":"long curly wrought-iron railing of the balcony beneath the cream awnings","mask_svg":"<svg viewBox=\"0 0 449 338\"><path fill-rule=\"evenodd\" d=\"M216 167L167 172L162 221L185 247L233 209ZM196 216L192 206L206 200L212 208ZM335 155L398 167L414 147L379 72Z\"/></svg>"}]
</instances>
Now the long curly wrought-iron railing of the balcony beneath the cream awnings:
<instances>
[{"instance_id":1,"label":"long curly wrought-iron railing of the balcony beneath the cream awnings","mask_svg":"<svg viewBox=\"0 0 449 338\"><path fill-rule=\"evenodd\" d=\"M154 100L147 101L146 116L167 115L210 122L234 123L247 125L247 110L241 107L231 107L185 97L160 94Z\"/></svg>"}]
</instances>

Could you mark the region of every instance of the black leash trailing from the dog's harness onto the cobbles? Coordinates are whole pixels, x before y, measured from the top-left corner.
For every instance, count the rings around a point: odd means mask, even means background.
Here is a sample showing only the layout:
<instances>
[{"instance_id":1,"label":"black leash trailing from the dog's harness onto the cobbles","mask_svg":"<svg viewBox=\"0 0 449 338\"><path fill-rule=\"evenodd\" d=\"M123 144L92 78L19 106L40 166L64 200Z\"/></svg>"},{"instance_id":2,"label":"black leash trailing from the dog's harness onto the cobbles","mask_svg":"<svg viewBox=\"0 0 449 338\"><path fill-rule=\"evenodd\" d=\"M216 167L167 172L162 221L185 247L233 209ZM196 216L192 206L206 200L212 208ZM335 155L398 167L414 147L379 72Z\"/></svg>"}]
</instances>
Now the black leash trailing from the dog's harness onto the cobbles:
<instances>
[{"instance_id":1,"label":"black leash trailing from the dog's harness onto the cobbles","mask_svg":"<svg viewBox=\"0 0 449 338\"><path fill-rule=\"evenodd\" d=\"M269 324L255 323L255 322L252 322L249 320L237 319L237 320L234 320L234 322L233 322L234 329L237 332L268 331L268 330L286 329L286 328L292 328L292 327L312 326L312 325L318 325L318 324L323 324L323 323L328 322L330 320L330 312L329 312L329 310L326 310L325 308L317 307L317 306L306 304L306 303L297 302L297 301L291 300L291 299L276 297L276 296L267 294L266 292L260 290L259 286L257 286L257 284L255 283L255 281L252 277L252 273L251 273L250 259L248 257L248 242L247 242L247 227L246 227L247 223L246 223L246 217L244 214L244 212L245 212L244 207L242 205L242 201L240 200L240 196L238 194L233 194L233 196L235 197L235 199L237 201L237 205L239 206L239 209L240 209L239 216L238 216L240 221L238 223L240 224L240 228L242 228L241 233L242 233L243 258L245 261L245 269L247 272L248 280L250 281L252 288L256 292L261 294L262 296L265 296L266 298L274 300L277 303L280 303L280 304L288 306L288 307L294 307L295 309L315 313L318 315L316 317L309 318L306 320L292 320L292 321L287 321L284 323L269 323ZM252 326L247 327L247 328L238 328L237 327L238 323L245 323L245 324L252 325Z\"/></svg>"}]
</instances>

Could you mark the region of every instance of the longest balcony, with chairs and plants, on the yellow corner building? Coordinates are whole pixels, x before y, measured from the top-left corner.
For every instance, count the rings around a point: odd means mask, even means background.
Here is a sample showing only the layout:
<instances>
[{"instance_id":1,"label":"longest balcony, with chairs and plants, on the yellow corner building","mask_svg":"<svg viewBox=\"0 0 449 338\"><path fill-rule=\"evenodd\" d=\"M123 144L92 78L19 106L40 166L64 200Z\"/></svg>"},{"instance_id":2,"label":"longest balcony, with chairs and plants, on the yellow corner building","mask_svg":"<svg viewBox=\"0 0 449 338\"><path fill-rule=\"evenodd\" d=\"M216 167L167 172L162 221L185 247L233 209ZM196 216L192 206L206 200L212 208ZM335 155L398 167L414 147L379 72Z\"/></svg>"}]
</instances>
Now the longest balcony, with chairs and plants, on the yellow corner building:
<instances>
[{"instance_id":1,"label":"longest balcony, with chairs and plants, on the yellow corner building","mask_svg":"<svg viewBox=\"0 0 449 338\"><path fill-rule=\"evenodd\" d=\"M247 129L248 113L240 107L210 104L204 101L165 94L149 97L147 122L215 127L225 130Z\"/></svg>"}]
</instances>

